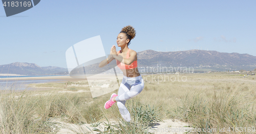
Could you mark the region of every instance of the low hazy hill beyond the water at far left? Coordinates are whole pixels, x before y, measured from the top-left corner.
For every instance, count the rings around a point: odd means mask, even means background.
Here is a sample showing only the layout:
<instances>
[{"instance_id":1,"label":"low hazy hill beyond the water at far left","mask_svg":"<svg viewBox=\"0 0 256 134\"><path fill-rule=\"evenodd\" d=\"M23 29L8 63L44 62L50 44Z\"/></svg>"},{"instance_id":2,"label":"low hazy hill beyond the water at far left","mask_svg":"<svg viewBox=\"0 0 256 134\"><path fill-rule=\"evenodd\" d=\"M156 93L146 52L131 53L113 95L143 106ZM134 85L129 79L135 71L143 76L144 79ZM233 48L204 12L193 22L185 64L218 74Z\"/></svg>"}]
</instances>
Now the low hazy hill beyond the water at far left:
<instances>
[{"instance_id":1,"label":"low hazy hill beyond the water at far left","mask_svg":"<svg viewBox=\"0 0 256 134\"><path fill-rule=\"evenodd\" d=\"M67 74L68 69L61 67L40 67L34 63L15 62L7 65L0 65L0 73L22 74L22 75L53 75Z\"/></svg>"}]
</instances>

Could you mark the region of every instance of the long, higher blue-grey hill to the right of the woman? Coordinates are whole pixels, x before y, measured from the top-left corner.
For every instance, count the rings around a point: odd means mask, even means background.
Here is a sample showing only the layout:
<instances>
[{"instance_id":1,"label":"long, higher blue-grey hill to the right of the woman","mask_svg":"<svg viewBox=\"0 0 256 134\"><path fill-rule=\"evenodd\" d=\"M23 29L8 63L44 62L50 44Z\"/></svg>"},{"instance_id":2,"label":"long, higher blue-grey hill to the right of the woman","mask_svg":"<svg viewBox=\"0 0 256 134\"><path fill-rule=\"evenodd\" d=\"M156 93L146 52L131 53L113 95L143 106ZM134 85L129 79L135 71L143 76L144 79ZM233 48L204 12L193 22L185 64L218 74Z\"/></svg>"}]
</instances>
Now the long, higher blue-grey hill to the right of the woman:
<instances>
[{"instance_id":1,"label":"long, higher blue-grey hill to the right of the woman","mask_svg":"<svg viewBox=\"0 0 256 134\"><path fill-rule=\"evenodd\" d=\"M137 52L138 65L143 67L173 66L173 67L200 67L215 66L231 69L254 69L256 57L248 54L227 53L210 50L185 51L154 51L144 50Z\"/></svg>"}]
</instances>

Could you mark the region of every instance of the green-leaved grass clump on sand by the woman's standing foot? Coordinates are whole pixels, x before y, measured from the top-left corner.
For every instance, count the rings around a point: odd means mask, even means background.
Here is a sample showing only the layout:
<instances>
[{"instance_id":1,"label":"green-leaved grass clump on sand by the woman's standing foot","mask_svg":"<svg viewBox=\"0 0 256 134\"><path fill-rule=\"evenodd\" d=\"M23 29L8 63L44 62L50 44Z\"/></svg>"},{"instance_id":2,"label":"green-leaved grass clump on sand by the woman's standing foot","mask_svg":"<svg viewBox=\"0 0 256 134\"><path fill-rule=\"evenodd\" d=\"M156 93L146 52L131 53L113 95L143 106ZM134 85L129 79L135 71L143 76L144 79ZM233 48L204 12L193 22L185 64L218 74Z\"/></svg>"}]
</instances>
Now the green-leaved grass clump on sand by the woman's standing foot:
<instances>
[{"instance_id":1,"label":"green-leaved grass clump on sand by the woman's standing foot","mask_svg":"<svg viewBox=\"0 0 256 134\"><path fill-rule=\"evenodd\" d=\"M159 116L159 110L155 106L145 105L138 100L130 100L129 107L132 120L126 122L123 118L118 118L118 121L111 123L108 118L105 117L104 130L93 128L94 131L100 133L150 133L151 126L155 122L161 120ZM97 124L94 123L94 124Z\"/></svg>"}]
</instances>

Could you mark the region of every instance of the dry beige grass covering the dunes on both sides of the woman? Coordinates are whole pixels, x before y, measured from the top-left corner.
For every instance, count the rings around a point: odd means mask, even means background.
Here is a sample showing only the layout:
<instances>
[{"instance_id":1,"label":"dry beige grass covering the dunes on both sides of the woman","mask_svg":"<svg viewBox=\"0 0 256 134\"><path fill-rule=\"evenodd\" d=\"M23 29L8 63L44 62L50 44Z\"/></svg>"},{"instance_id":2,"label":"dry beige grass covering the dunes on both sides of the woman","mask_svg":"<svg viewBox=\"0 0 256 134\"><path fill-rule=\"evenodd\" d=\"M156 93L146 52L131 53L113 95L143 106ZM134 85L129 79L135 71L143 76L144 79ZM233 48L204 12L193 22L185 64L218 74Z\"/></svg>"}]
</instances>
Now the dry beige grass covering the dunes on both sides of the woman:
<instances>
[{"instance_id":1,"label":"dry beige grass covering the dunes on both sides of the woman","mask_svg":"<svg viewBox=\"0 0 256 134\"><path fill-rule=\"evenodd\" d=\"M224 72L179 76L144 75L143 91L126 102L137 124L121 122L119 126L109 125L109 129L101 133L144 133L144 120L155 117L179 119L195 128L255 127L256 76L242 77L243 75ZM40 86L42 85L44 84ZM48 86L60 88L63 84L52 83ZM116 105L113 105L111 110L103 108L112 93L92 98L90 92L75 93L77 88L79 87L70 87L74 93L59 93L61 90L67 90L67 87L49 91L2 90L0 133L56 133L56 122L52 122L52 119L56 118L75 124L121 119ZM137 116L138 110L147 115ZM156 113L152 117L148 116L150 112L146 111ZM124 128L134 129L123 131Z\"/></svg>"}]
</instances>

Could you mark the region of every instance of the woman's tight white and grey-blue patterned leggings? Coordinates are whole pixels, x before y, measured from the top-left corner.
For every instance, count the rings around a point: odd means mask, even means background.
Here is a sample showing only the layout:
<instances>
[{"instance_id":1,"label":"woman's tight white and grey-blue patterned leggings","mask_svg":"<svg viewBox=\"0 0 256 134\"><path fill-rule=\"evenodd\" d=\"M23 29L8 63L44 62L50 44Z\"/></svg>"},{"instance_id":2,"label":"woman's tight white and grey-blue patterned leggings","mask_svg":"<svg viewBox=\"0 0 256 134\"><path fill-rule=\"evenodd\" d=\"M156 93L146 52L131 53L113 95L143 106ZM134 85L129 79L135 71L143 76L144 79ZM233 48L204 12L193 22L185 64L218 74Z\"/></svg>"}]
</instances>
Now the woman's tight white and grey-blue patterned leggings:
<instances>
[{"instance_id":1,"label":"woman's tight white and grey-blue patterned leggings","mask_svg":"<svg viewBox=\"0 0 256 134\"><path fill-rule=\"evenodd\" d=\"M118 96L116 96L117 106L119 112L125 121L131 121L131 115L125 107L125 102L138 95L144 88L144 81L140 76L126 77L123 76L123 81L118 90Z\"/></svg>"}]
</instances>

